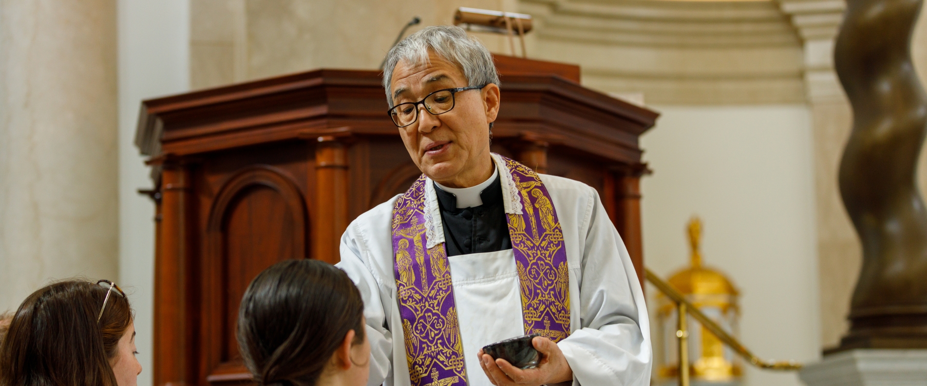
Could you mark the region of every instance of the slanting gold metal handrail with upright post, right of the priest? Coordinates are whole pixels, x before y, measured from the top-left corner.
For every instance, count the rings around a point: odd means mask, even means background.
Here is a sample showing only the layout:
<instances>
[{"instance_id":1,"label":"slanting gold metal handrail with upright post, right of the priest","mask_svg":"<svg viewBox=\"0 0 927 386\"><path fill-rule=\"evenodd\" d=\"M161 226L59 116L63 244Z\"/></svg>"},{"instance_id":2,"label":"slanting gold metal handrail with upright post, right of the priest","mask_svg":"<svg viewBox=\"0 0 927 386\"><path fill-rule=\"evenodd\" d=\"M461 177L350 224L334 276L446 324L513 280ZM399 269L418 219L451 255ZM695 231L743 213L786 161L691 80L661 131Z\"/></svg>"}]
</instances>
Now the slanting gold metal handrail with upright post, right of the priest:
<instances>
[{"instance_id":1,"label":"slanting gold metal handrail with upright post, right of the priest","mask_svg":"<svg viewBox=\"0 0 927 386\"><path fill-rule=\"evenodd\" d=\"M743 359L746 359L751 365L766 368L769 370L798 370L802 368L800 363L794 361L786 362L767 362L764 361L753 353L750 350L747 350L746 347L743 347L740 341L737 341L736 338L730 336L730 334L725 331L723 328L717 325L715 321L711 320L698 309L692 305L691 302L687 301L685 296L679 293L678 290L674 289L666 281L663 281L660 277L657 277L656 274L651 272L649 269L644 269L644 274L647 277L647 280L651 284L659 289L660 292L663 292L667 297L676 303L677 313L679 315L678 325L676 330L676 338L679 339L679 385L680 386L689 386L689 329L686 325L686 315L692 315L695 320L698 320L705 329L714 334L718 340L727 344L735 353L743 356Z\"/></svg>"}]
</instances>

